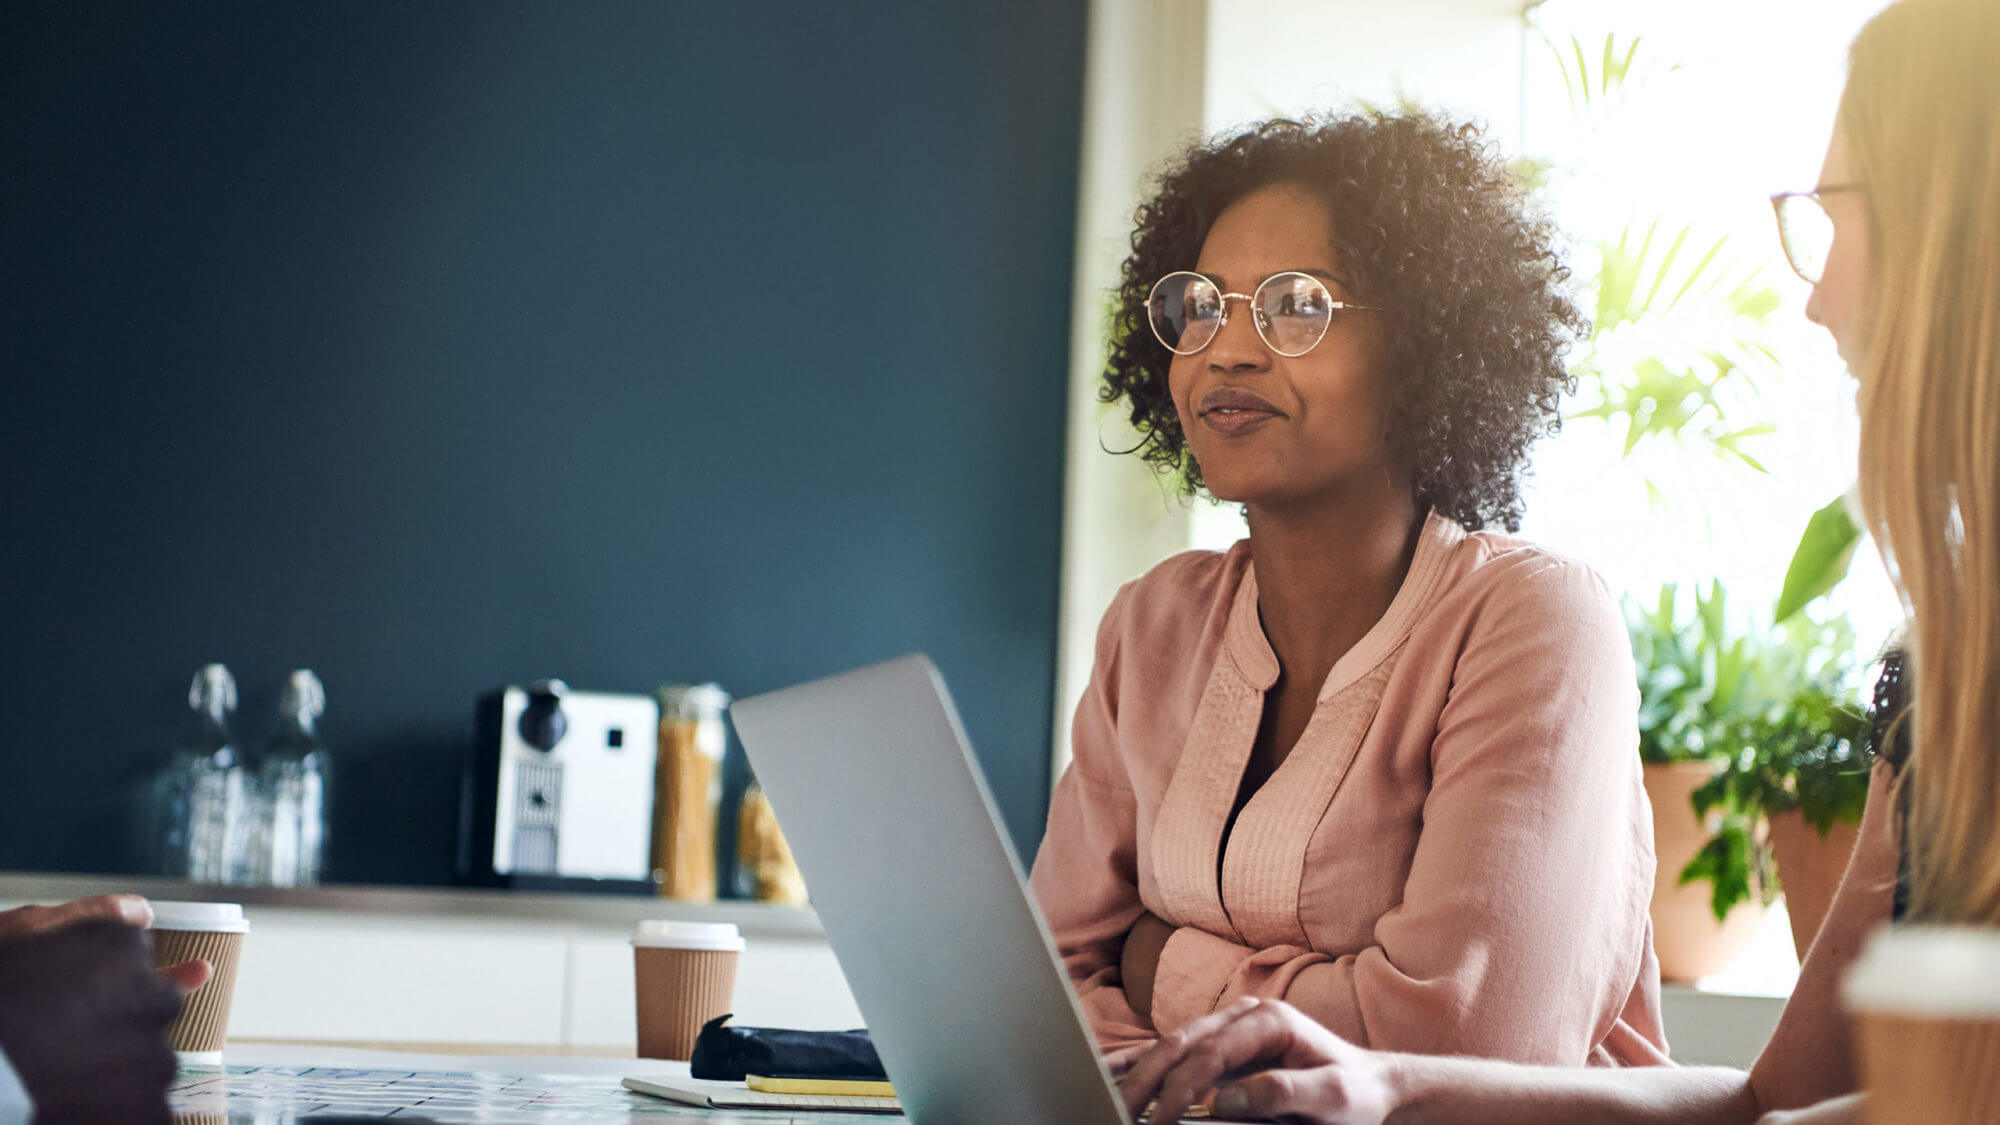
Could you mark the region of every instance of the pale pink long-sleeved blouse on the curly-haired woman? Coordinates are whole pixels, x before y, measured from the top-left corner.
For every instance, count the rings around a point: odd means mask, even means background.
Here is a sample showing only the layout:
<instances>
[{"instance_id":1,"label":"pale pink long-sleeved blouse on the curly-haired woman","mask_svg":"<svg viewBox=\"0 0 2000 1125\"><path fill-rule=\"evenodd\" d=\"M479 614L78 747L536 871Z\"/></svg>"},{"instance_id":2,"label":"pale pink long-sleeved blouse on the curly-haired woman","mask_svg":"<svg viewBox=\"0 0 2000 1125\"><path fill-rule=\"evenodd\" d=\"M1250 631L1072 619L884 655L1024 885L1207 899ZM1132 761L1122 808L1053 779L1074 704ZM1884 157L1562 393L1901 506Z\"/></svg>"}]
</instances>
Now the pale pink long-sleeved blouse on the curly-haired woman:
<instances>
[{"instance_id":1,"label":"pale pink long-sleeved blouse on the curly-haired woman","mask_svg":"<svg viewBox=\"0 0 2000 1125\"><path fill-rule=\"evenodd\" d=\"M1390 1051L1666 1063L1638 689L1588 567L1432 514L1224 841L1276 679L1248 542L1104 615L1032 877L1104 1049L1258 995ZM1150 1013L1142 911L1180 927Z\"/></svg>"}]
</instances>

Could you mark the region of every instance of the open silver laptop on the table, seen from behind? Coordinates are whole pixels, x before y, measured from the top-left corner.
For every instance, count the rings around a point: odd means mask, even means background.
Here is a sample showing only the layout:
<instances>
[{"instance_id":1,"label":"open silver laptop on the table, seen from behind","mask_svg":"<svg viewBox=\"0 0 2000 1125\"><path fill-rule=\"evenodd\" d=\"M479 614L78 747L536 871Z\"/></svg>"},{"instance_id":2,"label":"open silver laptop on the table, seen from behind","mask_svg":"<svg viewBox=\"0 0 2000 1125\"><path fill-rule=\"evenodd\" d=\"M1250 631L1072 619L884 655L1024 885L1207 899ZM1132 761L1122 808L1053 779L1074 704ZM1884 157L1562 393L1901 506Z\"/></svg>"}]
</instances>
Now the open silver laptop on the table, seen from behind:
<instances>
[{"instance_id":1,"label":"open silver laptop on the table, seen from behind","mask_svg":"<svg viewBox=\"0 0 2000 1125\"><path fill-rule=\"evenodd\" d=\"M904 1113L1130 1125L926 657L730 707Z\"/></svg>"}]
</instances>

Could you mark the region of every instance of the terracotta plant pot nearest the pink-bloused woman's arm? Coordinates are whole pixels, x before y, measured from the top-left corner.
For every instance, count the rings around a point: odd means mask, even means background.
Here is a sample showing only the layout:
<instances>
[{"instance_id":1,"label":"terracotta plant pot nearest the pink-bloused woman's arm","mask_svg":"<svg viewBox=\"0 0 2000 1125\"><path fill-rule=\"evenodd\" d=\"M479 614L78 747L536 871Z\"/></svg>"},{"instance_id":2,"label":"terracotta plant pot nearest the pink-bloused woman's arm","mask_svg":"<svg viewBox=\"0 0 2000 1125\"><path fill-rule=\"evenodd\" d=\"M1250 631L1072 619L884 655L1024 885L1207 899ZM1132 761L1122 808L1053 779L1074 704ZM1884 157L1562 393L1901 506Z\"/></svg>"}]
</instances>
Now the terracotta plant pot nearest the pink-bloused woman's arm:
<instances>
[{"instance_id":1,"label":"terracotta plant pot nearest the pink-bloused woman's arm","mask_svg":"<svg viewBox=\"0 0 2000 1125\"><path fill-rule=\"evenodd\" d=\"M1690 803L1694 791L1714 775L1716 767L1708 763L1646 765L1652 849L1660 861L1660 873L1652 881L1652 945L1660 955L1660 977L1668 981L1694 981L1722 971L1750 945L1764 921L1764 905L1752 897L1718 923L1708 881L1680 883L1680 871L1716 827L1718 817L1706 827L1696 821Z\"/></svg>"}]
</instances>

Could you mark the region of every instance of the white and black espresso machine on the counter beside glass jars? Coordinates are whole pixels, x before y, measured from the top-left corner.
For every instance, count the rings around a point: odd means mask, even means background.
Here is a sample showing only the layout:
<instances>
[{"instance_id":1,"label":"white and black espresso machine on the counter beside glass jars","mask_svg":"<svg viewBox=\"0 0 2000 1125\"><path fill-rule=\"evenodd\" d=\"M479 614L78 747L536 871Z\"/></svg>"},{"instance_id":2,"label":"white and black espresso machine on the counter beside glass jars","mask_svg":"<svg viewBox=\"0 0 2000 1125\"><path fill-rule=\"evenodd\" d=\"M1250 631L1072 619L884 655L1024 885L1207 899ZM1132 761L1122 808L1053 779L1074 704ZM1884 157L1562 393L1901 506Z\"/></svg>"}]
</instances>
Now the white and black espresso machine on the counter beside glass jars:
<instances>
[{"instance_id":1,"label":"white and black espresso machine on the counter beside glass jars","mask_svg":"<svg viewBox=\"0 0 2000 1125\"><path fill-rule=\"evenodd\" d=\"M660 705L536 681L480 697L458 873L520 889L652 893Z\"/></svg>"}]
</instances>

